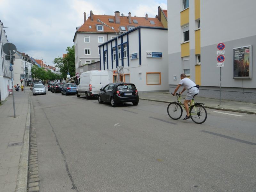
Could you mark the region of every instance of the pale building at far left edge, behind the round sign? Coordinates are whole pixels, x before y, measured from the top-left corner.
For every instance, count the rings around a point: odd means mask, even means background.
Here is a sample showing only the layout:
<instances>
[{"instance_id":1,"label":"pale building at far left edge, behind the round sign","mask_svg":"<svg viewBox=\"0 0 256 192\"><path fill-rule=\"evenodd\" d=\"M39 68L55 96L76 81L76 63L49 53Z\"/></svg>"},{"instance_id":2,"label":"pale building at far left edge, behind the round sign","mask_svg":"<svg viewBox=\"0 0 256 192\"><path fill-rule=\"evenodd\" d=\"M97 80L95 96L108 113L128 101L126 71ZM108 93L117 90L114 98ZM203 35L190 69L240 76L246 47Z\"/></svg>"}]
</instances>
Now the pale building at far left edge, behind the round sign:
<instances>
[{"instance_id":1,"label":"pale building at far left edge, behind the round sign","mask_svg":"<svg viewBox=\"0 0 256 192\"><path fill-rule=\"evenodd\" d=\"M6 43L8 43L7 35L0 20L0 101L5 100L9 96L8 89L12 89L10 61L5 60L6 54L3 51L3 45Z\"/></svg>"}]
</instances>

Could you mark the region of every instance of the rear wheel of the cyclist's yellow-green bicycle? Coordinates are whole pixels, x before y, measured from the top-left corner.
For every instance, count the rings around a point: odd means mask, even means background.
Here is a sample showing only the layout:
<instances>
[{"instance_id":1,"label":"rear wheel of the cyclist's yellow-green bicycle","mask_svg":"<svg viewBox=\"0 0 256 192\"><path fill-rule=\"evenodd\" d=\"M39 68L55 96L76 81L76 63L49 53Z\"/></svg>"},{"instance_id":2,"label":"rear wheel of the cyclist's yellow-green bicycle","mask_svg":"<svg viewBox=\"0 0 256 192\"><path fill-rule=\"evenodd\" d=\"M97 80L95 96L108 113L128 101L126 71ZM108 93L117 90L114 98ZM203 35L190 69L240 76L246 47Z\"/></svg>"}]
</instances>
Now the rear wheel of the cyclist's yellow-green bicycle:
<instances>
[{"instance_id":1,"label":"rear wheel of the cyclist's yellow-green bicycle","mask_svg":"<svg viewBox=\"0 0 256 192\"><path fill-rule=\"evenodd\" d=\"M197 124L204 123L207 118L207 111L201 104L195 104L191 106L189 114L191 116L192 121L194 121Z\"/></svg>"}]
</instances>

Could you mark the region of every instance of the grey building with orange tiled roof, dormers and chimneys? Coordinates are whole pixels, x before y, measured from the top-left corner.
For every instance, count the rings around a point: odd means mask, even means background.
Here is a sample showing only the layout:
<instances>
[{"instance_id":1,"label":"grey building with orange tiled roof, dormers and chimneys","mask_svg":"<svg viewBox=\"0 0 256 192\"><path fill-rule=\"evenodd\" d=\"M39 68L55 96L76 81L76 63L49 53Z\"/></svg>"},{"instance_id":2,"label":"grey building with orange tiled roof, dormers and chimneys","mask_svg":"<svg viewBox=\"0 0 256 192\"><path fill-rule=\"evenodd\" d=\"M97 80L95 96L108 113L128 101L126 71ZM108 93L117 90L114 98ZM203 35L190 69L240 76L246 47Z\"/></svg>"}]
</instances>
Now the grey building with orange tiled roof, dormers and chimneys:
<instances>
[{"instance_id":1,"label":"grey building with orange tiled roof, dormers and chimneys","mask_svg":"<svg viewBox=\"0 0 256 192\"><path fill-rule=\"evenodd\" d=\"M160 7L158 12L161 15L164 12L167 14L167 10L162 10ZM161 18L167 27L166 17L162 16ZM109 27L98 20L104 22ZM100 60L100 44L116 38L116 36L137 26L164 27L160 17L158 18L157 15L156 18L149 18L147 14L145 17L132 17L130 12L128 16L124 16L124 14L120 15L118 11L115 12L115 15L94 15L91 11L90 16L86 20L86 13L84 12L84 24L76 28L73 39L75 44L76 74L79 75L84 72L84 68L81 68L82 66Z\"/></svg>"}]
</instances>

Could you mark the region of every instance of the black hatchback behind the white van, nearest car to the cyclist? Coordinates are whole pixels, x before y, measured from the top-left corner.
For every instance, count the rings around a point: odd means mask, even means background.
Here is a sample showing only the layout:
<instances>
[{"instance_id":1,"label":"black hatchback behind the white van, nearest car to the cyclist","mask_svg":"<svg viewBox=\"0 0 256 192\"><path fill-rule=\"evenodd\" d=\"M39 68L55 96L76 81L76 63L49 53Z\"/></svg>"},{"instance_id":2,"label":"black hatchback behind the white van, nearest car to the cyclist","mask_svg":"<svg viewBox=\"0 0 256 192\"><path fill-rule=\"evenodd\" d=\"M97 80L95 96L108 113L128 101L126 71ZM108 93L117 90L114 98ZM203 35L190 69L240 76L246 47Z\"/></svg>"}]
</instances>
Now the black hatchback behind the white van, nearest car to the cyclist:
<instances>
[{"instance_id":1,"label":"black hatchback behind the white van, nearest car to the cyclist","mask_svg":"<svg viewBox=\"0 0 256 192\"><path fill-rule=\"evenodd\" d=\"M135 85L132 83L110 83L100 89L98 101L99 103L110 102L112 107L119 103L127 102L138 105L139 95Z\"/></svg>"}]
</instances>

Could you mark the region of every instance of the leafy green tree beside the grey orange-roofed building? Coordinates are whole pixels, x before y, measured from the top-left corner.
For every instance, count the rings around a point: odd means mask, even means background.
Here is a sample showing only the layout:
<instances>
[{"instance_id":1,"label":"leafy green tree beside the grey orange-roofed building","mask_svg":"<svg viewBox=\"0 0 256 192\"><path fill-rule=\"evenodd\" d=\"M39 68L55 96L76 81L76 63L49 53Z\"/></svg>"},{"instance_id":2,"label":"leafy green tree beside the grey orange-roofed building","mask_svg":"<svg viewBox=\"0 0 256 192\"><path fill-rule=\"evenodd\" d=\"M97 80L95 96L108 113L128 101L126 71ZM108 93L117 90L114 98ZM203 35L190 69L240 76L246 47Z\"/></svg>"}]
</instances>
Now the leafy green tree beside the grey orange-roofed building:
<instances>
[{"instance_id":1,"label":"leafy green tree beside the grey orange-roofed building","mask_svg":"<svg viewBox=\"0 0 256 192\"><path fill-rule=\"evenodd\" d=\"M53 60L55 67L60 69L63 79L66 79L68 72L71 77L75 76L76 74L75 45L73 45L72 47L67 47L66 51L67 54L64 58L57 57ZM68 64L66 60L68 61Z\"/></svg>"}]
</instances>

